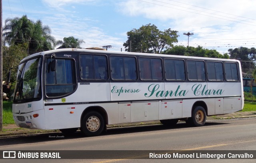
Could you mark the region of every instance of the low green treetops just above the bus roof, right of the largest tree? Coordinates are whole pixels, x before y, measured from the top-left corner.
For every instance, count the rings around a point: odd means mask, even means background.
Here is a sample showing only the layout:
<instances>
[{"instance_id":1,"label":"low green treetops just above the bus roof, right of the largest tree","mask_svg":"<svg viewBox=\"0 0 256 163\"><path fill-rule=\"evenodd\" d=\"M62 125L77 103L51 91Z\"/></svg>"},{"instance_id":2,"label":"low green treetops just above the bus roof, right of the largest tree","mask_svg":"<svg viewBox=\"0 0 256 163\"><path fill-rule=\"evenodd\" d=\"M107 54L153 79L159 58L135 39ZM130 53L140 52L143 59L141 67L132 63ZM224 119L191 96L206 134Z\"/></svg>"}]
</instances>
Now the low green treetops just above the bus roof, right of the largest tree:
<instances>
[{"instance_id":1,"label":"low green treetops just above the bus roof, right of the largest tree","mask_svg":"<svg viewBox=\"0 0 256 163\"><path fill-rule=\"evenodd\" d=\"M216 50L205 49L202 46L192 47L192 46L174 46L172 48L168 48L163 54L171 54L171 55L179 55L179 56L195 56L195 57L206 57L206 58L226 58L229 56L227 53L220 54Z\"/></svg>"}]
</instances>

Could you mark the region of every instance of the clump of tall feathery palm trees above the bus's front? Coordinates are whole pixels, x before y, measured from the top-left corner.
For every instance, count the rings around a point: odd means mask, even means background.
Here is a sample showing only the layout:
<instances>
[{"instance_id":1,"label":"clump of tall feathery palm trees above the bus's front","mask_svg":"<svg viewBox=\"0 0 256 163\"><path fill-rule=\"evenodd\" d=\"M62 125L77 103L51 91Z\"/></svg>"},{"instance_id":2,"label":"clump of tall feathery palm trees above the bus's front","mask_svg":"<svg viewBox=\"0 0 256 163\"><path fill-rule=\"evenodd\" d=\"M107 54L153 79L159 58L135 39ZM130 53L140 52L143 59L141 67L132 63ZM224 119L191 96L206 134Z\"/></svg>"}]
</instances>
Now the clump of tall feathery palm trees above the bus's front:
<instances>
[{"instance_id":1,"label":"clump of tall feathery palm trees above the bus's front","mask_svg":"<svg viewBox=\"0 0 256 163\"><path fill-rule=\"evenodd\" d=\"M4 42L10 46L26 43L28 54L52 50L55 46L50 27L43 26L41 20L33 22L26 15L6 19L3 32Z\"/></svg>"}]
</instances>

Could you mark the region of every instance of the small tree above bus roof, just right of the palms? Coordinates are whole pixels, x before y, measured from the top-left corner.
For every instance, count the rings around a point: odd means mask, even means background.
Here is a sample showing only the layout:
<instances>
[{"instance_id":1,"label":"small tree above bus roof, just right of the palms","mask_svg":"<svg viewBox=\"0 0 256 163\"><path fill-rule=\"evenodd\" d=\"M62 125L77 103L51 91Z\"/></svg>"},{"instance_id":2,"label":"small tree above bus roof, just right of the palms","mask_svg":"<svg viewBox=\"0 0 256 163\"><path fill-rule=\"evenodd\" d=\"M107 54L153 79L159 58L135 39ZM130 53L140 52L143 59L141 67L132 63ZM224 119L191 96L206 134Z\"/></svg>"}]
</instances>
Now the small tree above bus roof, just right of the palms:
<instances>
[{"instance_id":1,"label":"small tree above bus roof, just right of the palms","mask_svg":"<svg viewBox=\"0 0 256 163\"><path fill-rule=\"evenodd\" d=\"M81 49L81 44L85 43L84 40L79 40L78 38L74 38L73 36L70 36L68 38L63 38L62 40L58 40L56 42L56 45L61 45L57 49L63 49L63 48L78 48Z\"/></svg>"}]
</instances>

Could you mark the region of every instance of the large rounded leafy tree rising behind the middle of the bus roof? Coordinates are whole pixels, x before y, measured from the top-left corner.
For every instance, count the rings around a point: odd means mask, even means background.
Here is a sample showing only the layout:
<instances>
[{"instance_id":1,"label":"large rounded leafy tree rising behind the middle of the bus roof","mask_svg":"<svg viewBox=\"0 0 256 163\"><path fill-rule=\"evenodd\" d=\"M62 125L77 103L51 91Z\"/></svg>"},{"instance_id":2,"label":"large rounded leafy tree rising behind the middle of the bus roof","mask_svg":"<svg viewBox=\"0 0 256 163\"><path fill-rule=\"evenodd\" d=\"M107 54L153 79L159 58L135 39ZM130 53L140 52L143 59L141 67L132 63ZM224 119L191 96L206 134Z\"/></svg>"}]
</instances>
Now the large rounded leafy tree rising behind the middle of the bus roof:
<instances>
[{"instance_id":1,"label":"large rounded leafy tree rising behind the middle of the bus roof","mask_svg":"<svg viewBox=\"0 0 256 163\"><path fill-rule=\"evenodd\" d=\"M164 48L173 46L174 42L178 42L178 31L168 30L160 31L153 24L147 24L139 29L133 29L127 32L128 40L123 44L125 51L156 53L159 54ZM132 47L130 47L132 42Z\"/></svg>"}]
</instances>

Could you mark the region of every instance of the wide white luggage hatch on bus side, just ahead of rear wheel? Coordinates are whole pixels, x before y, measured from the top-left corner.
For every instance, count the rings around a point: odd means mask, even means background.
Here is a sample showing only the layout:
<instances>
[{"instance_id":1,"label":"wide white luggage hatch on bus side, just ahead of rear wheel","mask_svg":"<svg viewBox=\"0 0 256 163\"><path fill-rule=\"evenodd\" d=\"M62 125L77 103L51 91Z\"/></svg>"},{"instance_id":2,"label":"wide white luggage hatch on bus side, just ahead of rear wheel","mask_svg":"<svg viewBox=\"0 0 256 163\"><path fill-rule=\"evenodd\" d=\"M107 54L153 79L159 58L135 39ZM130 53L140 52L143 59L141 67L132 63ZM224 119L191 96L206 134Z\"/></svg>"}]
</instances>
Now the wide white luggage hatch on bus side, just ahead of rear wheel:
<instances>
[{"instance_id":1,"label":"wide white luggage hatch on bus side, just ahead of rear wheel","mask_svg":"<svg viewBox=\"0 0 256 163\"><path fill-rule=\"evenodd\" d=\"M182 117L182 100L162 101L162 119Z\"/></svg>"}]
</instances>

